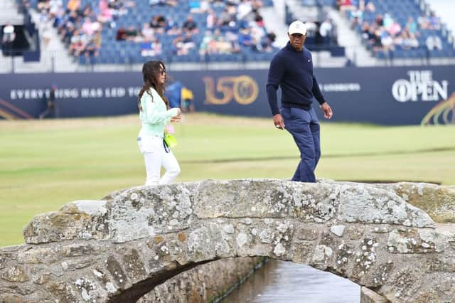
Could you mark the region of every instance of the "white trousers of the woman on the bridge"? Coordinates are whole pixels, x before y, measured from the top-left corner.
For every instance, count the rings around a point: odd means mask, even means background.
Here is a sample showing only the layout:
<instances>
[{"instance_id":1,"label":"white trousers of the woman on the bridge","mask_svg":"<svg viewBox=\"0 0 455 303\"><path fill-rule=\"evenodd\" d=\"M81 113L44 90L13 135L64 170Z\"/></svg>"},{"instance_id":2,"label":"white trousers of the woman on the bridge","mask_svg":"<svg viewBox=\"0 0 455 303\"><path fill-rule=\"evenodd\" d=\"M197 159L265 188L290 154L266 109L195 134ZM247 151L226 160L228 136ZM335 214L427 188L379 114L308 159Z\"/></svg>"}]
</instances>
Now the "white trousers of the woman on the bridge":
<instances>
[{"instance_id":1,"label":"white trousers of the woman on the bridge","mask_svg":"<svg viewBox=\"0 0 455 303\"><path fill-rule=\"evenodd\" d=\"M141 136L138 138L139 149L144 154L146 182L145 185L170 184L180 174L180 166L172 151L164 149L163 138ZM161 166L166 173L160 179Z\"/></svg>"}]
</instances>

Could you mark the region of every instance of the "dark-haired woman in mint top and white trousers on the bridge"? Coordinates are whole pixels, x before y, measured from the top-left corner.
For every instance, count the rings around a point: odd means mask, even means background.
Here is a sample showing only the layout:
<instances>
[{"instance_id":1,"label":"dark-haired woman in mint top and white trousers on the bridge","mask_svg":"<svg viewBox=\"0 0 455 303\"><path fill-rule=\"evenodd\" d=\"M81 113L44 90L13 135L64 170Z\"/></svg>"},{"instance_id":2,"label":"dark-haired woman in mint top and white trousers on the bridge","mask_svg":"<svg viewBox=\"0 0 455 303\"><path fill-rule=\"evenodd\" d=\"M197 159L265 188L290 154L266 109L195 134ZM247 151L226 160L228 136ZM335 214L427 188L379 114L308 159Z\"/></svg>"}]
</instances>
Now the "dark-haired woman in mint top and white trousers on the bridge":
<instances>
[{"instance_id":1,"label":"dark-haired woman in mint top and white trousers on the bridge","mask_svg":"<svg viewBox=\"0 0 455 303\"><path fill-rule=\"evenodd\" d=\"M142 128L137 141L145 159L145 185L170 184L180 173L180 166L164 143L164 129L169 122L180 121L181 110L168 109L168 100L164 97L166 68L163 62L153 60L144 63L142 75L144 85L139 92ZM166 173L160 178L161 166Z\"/></svg>"}]
</instances>

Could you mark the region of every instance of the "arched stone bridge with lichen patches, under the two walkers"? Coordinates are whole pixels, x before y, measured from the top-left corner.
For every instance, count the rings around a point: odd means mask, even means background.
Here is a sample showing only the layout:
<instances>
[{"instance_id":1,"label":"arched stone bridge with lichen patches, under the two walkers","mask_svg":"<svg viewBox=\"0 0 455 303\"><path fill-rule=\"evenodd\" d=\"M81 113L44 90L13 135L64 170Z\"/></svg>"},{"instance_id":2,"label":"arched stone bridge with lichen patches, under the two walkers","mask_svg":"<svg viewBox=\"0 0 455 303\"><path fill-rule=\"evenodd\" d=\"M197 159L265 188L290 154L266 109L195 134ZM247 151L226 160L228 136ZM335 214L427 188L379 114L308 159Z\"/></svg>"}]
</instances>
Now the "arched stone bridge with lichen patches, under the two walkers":
<instances>
[{"instance_id":1,"label":"arched stone bridge with lichen patches, under the two walkers","mask_svg":"<svg viewBox=\"0 0 455 303\"><path fill-rule=\"evenodd\" d=\"M310 265L392 302L454 302L454 228L406 202L419 196L455 222L455 188L429 184L208 180L74 201L0 249L0 302L134 302L237 256Z\"/></svg>"}]
</instances>

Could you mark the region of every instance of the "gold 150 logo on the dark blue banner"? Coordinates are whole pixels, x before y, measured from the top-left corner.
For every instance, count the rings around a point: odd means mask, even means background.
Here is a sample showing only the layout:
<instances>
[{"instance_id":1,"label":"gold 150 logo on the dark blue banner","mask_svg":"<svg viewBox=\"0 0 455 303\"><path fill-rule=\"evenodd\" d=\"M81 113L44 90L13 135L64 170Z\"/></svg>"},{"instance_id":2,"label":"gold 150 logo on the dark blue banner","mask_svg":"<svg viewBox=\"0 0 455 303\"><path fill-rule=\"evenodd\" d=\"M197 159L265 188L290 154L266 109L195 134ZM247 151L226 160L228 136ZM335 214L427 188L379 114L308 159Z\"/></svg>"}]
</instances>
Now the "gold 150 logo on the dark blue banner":
<instances>
[{"instance_id":1,"label":"gold 150 logo on the dark blue banner","mask_svg":"<svg viewBox=\"0 0 455 303\"><path fill-rule=\"evenodd\" d=\"M205 104L223 105L232 98L241 105L255 102L259 87L255 80L247 75L238 77L221 77L215 85L212 77L205 77ZM217 95L219 97L217 97Z\"/></svg>"}]
</instances>

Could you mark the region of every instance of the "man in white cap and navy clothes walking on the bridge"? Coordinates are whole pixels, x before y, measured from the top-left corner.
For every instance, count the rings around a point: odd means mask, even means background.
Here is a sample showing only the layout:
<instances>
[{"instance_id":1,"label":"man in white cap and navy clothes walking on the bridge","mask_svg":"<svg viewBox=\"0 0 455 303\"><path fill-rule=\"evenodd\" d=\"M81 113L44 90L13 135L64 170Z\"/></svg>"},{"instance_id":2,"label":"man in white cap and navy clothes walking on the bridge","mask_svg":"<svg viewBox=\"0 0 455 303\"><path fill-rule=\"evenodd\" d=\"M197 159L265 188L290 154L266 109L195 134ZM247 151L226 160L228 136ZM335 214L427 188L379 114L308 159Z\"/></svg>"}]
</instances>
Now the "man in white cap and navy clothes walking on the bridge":
<instances>
[{"instance_id":1,"label":"man in white cap and navy clothes walking on the bridge","mask_svg":"<svg viewBox=\"0 0 455 303\"><path fill-rule=\"evenodd\" d=\"M321 156L319 121L311 107L314 98L321 105L326 119L332 110L324 99L313 75L313 60L304 48L306 26L301 21L289 25L287 46L274 55L267 80L267 97L273 122L279 129L286 128L300 151L300 162L292 181L316 182L314 170ZM282 89L282 108L278 108L277 90Z\"/></svg>"}]
</instances>

